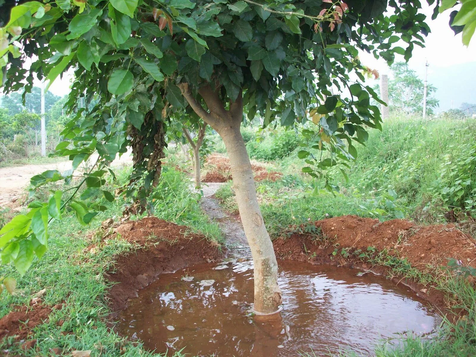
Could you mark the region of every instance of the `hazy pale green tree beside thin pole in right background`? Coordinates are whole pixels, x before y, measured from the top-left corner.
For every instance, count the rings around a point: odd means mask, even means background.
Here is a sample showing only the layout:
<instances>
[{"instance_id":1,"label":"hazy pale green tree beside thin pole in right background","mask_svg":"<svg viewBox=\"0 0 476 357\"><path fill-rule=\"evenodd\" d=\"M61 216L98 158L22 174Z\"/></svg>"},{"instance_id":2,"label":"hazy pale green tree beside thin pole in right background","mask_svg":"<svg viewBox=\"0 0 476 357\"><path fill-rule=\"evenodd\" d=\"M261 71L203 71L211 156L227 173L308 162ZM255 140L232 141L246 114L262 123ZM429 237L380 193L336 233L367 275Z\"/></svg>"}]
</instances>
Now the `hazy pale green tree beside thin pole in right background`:
<instances>
[{"instance_id":1,"label":"hazy pale green tree beside thin pole in right background","mask_svg":"<svg viewBox=\"0 0 476 357\"><path fill-rule=\"evenodd\" d=\"M388 81L388 99L391 110L402 110L406 113L421 113L423 111L423 93L425 84L418 78L413 69L408 68L406 62L394 63L390 69L393 78ZM438 100L433 96L436 88L431 84L427 87L426 111L433 113L438 107Z\"/></svg>"}]
</instances>

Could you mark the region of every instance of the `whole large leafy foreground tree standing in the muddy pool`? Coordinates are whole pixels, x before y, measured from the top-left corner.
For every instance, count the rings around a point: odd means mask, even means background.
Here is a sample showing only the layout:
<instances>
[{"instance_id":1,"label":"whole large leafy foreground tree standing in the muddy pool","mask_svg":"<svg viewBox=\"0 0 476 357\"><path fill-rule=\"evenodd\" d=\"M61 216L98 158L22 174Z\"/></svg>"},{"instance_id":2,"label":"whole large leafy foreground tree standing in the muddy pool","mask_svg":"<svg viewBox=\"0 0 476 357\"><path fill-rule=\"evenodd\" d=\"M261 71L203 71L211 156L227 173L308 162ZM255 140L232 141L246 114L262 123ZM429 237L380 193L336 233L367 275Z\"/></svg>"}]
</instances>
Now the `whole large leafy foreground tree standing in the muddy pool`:
<instances>
[{"instance_id":1,"label":"whole large leafy foreground tree standing in the muddy pool","mask_svg":"<svg viewBox=\"0 0 476 357\"><path fill-rule=\"evenodd\" d=\"M108 163L131 146L134 166L124 188L131 199L126 213L147 207L170 123L194 113L215 129L227 147L253 254L254 310L272 314L281 302L278 267L239 130L243 113L252 119L258 112L264 126L312 120L315 129L304 135L328 155L321 159L301 150L299 157L308 164L303 171L326 178L323 169L348 167L346 161L357 158L354 142L365 142L366 127L380 128L381 121L377 106L370 105L370 98L379 100L377 94L362 83L367 68L357 49L389 62L395 53L408 60L429 30L419 8L419 1L391 1L387 9L386 0L146 0L140 7L135 0L26 2L13 8L1 29L8 39L0 47L0 58L8 63L3 65L5 90L25 86L29 91L33 71L52 81L76 69L67 102L72 120L57 153L69 155L73 168L99 153L94 171L81 181L94 191L101 187ZM406 49L395 45L399 39ZM31 70L23 69L23 62L34 56L38 60ZM353 73L357 81L350 79ZM349 97L338 94L344 89ZM90 108L93 99L99 102ZM38 187L63 178L45 172L32 183ZM0 248L6 251L2 257L20 271L30 266L32 251L44 254L47 224L41 222L60 218L69 205L87 224L100 208L72 196L60 203L62 195L57 191L49 202L38 203L0 230Z\"/></svg>"}]
</instances>

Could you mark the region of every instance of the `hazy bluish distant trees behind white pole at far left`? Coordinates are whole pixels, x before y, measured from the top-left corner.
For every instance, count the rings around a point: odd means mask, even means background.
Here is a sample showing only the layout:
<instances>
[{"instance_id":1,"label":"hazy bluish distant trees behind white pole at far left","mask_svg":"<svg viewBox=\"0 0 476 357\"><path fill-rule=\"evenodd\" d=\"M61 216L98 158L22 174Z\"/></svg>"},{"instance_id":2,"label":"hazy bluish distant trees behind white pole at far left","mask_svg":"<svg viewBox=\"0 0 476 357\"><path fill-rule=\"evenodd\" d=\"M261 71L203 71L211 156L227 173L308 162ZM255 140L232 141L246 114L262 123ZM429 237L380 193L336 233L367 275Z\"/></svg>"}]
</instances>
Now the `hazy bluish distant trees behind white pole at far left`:
<instances>
[{"instance_id":1,"label":"hazy bluish distant trees behind white pole at far left","mask_svg":"<svg viewBox=\"0 0 476 357\"><path fill-rule=\"evenodd\" d=\"M45 93L45 112L60 99L50 91ZM25 105L23 105L23 92L11 93L1 100L2 108L8 109L10 115L15 115L26 110L29 113L41 114L41 89L33 87L30 92L25 94Z\"/></svg>"}]
</instances>

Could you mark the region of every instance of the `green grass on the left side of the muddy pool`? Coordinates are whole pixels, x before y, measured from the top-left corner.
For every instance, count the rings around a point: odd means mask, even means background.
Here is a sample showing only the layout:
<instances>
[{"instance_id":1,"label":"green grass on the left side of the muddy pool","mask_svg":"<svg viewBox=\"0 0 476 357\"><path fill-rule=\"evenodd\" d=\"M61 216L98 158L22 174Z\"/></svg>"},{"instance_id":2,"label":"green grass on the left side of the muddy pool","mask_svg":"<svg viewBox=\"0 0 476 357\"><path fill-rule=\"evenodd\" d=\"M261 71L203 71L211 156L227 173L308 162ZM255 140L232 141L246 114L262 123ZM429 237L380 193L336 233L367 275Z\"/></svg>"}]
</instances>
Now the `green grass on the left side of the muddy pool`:
<instances>
[{"instance_id":1,"label":"green grass on the left side of the muddy pool","mask_svg":"<svg viewBox=\"0 0 476 357\"><path fill-rule=\"evenodd\" d=\"M119 172L123 180L127 171ZM166 194L167 192L174 194ZM198 195L188 188L188 178L175 170L164 169L163 180L155 190L154 196L164 201L157 204L155 215L178 224L197 222L193 231L208 235L211 240L222 242L218 225L208 223L207 216L198 207ZM109 217L120 217L123 210L121 200L104 202L108 210L94 220L91 228L99 226L100 221ZM190 211L184 213L184 208ZM92 349L92 357L105 356L159 356L142 349L140 343L130 342L111 331L106 317L109 309L104 301L109 284L103 274L112 266L114 256L135 250L133 246L120 239L110 240L96 254L85 252L91 244L87 232L91 228L79 225L75 217L65 217L50 226L49 249L42 259L36 259L27 273L20 277L11 265L0 266L0 276L11 276L17 280L15 295L3 293L0 299L0 316L12 310L13 306L28 304L33 294L47 289L44 304L55 305L65 301L61 310L53 310L50 320L34 330L32 338L37 338L35 348L23 351L20 344L9 346L8 340L0 342L0 351L9 349L15 355L51 356L50 348L60 347L65 356L71 350ZM59 327L58 321L64 320ZM175 356L181 356L176 354Z\"/></svg>"}]
</instances>

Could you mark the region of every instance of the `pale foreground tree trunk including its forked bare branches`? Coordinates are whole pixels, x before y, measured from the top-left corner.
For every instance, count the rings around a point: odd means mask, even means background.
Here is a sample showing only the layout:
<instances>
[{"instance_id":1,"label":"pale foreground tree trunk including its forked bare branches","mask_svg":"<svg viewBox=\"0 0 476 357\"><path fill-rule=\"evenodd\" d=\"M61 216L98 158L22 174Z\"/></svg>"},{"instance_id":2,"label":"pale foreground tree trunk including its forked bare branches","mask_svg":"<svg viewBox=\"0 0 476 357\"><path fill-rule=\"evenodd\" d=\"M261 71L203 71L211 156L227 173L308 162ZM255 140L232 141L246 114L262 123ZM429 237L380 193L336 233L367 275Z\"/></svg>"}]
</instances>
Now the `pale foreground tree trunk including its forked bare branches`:
<instances>
[{"instance_id":1,"label":"pale foreground tree trunk including its forked bare branches","mask_svg":"<svg viewBox=\"0 0 476 357\"><path fill-rule=\"evenodd\" d=\"M257 315L277 313L281 304L278 262L261 215L251 163L240 133L243 119L241 93L235 102L230 102L229 110L226 110L216 91L209 86L202 87L198 92L205 100L210 110L208 112L192 96L188 84L182 83L180 89L192 109L218 132L227 148L238 210L253 256L254 311Z\"/></svg>"}]
</instances>

